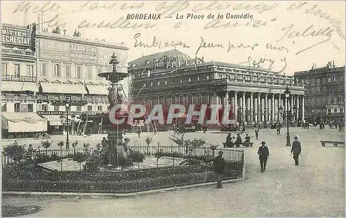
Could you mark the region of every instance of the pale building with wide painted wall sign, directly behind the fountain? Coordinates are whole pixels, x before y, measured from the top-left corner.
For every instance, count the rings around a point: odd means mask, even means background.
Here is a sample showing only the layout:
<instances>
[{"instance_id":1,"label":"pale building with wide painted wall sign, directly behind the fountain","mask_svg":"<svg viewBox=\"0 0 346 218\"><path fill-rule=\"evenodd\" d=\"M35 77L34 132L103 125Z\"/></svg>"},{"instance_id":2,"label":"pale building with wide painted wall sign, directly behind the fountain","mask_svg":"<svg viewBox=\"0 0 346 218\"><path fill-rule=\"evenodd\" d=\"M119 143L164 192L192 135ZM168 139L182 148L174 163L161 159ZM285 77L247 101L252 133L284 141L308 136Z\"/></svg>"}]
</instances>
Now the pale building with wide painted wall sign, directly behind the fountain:
<instances>
[{"instance_id":1,"label":"pale building with wide painted wall sign, directly behind the fountain","mask_svg":"<svg viewBox=\"0 0 346 218\"><path fill-rule=\"evenodd\" d=\"M117 70L127 72L129 48L120 43L83 39L79 32L70 36L59 28L51 32L35 30L35 48L37 112L48 119L50 132L62 129L60 116L66 115L66 98L70 105L67 110L73 117L96 115L108 110L107 88L110 84L98 77L98 73L112 70L109 61L113 53L120 62ZM84 120L73 128L79 126L83 131L80 133L84 134L85 130L95 130L98 125L96 121Z\"/></svg>"}]
</instances>

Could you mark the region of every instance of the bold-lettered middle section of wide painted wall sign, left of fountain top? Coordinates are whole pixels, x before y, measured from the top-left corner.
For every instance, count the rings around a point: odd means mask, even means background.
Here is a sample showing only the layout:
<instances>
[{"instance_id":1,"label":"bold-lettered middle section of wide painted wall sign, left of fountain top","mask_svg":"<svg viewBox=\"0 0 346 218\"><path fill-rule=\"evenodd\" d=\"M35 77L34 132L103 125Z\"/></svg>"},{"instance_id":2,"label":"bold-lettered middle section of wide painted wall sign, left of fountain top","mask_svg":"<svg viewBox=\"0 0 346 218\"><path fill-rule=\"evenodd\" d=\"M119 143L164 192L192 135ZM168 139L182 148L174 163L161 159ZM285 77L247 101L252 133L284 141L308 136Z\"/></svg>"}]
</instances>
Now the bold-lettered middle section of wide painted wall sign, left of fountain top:
<instances>
[{"instance_id":1,"label":"bold-lettered middle section of wide painted wall sign, left of fountain top","mask_svg":"<svg viewBox=\"0 0 346 218\"><path fill-rule=\"evenodd\" d=\"M77 63L98 63L98 48L71 43L71 61Z\"/></svg>"}]
</instances>

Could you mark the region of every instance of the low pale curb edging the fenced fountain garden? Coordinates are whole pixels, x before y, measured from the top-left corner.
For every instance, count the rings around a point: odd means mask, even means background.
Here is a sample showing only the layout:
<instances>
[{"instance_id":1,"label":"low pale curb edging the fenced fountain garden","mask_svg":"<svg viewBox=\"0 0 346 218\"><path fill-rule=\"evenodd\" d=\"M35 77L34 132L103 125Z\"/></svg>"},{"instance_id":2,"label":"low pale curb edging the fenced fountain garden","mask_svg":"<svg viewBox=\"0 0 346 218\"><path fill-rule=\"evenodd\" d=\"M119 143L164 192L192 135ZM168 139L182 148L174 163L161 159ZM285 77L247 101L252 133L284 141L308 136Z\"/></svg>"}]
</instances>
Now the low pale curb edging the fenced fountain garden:
<instances>
[{"instance_id":1,"label":"low pale curb edging the fenced fountain garden","mask_svg":"<svg viewBox=\"0 0 346 218\"><path fill-rule=\"evenodd\" d=\"M224 180L222 181L223 184L231 183L235 181L244 181L245 179L230 179L230 180ZM160 193L160 192L166 192L171 190L181 190L185 188L194 188L194 187L200 187L200 186L215 186L216 181L204 183L204 184L194 184L194 185L188 185L188 186L176 186L172 188L161 188L156 190L147 190L143 192L133 192L133 193L81 193L81 192L1 192L2 197L4 196L18 196L18 195L30 195L30 196L104 196L104 197L131 197L131 196L140 196L140 195L148 195L148 194L154 194L154 193Z\"/></svg>"}]
</instances>

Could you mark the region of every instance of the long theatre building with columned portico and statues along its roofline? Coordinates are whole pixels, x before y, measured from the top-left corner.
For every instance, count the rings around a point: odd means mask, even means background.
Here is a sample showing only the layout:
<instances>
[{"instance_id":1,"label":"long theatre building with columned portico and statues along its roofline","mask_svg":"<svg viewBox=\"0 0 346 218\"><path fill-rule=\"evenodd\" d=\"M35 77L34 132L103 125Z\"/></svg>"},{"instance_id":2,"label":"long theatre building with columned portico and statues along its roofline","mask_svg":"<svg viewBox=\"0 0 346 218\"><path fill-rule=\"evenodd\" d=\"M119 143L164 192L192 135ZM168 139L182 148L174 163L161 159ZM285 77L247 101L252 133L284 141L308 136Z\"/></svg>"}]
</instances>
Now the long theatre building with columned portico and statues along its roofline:
<instances>
[{"instance_id":1,"label":"long theatre building with columned portico and statues along its roofline","mask_svg":"<svg viewBox=\"0 0 346 218\"><path fill-rule=\"evenodd\" d=\"M165 119L171 104L196 104L197 108L208 104L206 119L210 119L210 105L217 104L218 125L225 107L230 108L229 118L238 123L283 122L287 111L294 122L304 120L304 87L292 76L233 63L204 62L178 50L130 61L129 72L133 93L138 94L134 102L145 104L148 110L163 105ZM287 101L286 88L291 91ZM197 120L192 117L192 122Z\"/></svg>"}]
</instances>

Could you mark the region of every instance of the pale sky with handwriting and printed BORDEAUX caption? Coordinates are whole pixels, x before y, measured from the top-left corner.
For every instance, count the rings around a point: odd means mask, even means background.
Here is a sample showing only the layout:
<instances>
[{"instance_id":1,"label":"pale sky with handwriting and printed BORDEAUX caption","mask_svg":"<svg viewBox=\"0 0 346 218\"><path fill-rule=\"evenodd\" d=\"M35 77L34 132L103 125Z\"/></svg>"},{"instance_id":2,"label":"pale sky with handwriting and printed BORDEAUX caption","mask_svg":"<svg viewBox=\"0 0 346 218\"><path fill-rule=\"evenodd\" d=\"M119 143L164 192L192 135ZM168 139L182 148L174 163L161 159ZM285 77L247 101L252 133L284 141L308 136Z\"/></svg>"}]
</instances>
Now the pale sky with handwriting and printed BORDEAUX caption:
<instances>
[{"instance_id":1,"label":"pale sky with handwriting and printed BORDEAUX caption","mask_svg":"<svg viewBox=\"0 0 346 218\"><path fill-rule=\"evenodd\" d=\"M2 23L37 22L39 13L50 32L125 43L128 61L176 49L286 75L345 65L345 1L1 1ZM147 19L126 20L136 14Z\"/></svg>"}]
</instances>

